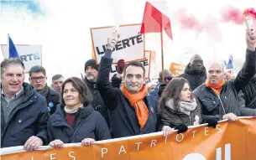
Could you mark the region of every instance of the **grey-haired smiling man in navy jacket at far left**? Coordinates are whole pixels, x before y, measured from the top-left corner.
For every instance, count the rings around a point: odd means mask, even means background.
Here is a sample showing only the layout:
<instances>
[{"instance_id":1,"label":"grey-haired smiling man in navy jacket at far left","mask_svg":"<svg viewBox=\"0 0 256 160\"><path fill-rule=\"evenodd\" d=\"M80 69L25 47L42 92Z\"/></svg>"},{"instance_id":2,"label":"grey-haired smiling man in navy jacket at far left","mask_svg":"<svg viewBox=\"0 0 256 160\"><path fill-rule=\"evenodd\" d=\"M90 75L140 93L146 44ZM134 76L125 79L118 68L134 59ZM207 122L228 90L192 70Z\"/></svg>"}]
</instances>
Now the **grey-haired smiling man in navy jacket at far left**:
<instances>
[{"instance_id":1,"label":"grey-haired smiling man in navy jacket at far left","mask_svg":"<svg viewBox=\"0 0 256 160\"><path fill-rule=\"evenodd\" d=\"M1 147L33 151L47 144L50 114L44 97L24 82L24 76L21 60L1 63Z\"/></svg>"}]
</instances>

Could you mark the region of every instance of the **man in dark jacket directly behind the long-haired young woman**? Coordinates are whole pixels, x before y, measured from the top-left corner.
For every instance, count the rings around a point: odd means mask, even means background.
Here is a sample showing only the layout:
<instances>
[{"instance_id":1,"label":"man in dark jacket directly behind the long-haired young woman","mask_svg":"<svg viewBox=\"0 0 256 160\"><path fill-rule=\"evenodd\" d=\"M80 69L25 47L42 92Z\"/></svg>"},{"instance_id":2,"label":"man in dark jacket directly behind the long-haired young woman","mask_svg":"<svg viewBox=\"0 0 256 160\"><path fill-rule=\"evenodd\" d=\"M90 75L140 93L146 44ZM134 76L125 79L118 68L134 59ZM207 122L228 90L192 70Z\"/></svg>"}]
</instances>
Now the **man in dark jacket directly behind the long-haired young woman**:
<instances>
[{"instance_id":1,"label":"man in dark jacket directly behind the long-haired young woman","mask_svg":"<svg viewBox=\"0 0 256 160\"><path fill-rule=\"evenodd\" d=\"M203 65L203 60L199 54L194 54L191 57L191 62L186 65L184 74L178 77L183 77L190 82L191 90L195 90L199 85L206 81L206 68Z\"/></svg>"}]
</instances>

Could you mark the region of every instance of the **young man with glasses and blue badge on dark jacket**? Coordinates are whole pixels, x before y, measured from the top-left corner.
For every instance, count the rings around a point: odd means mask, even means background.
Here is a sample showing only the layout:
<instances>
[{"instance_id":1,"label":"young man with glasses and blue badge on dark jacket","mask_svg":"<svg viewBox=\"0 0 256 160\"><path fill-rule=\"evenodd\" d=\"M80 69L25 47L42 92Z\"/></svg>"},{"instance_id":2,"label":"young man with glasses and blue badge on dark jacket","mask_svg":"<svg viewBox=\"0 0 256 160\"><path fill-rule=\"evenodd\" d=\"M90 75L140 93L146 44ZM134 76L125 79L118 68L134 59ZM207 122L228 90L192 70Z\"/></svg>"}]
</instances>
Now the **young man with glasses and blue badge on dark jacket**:
<instances>
[{"instance_id":1,"label":"young man with glasses and blue badge on dark jacket","mask_svg":"<svg viewBox=\"0 0 256 160\"><path fill-rule=\"evenodd\" d=\"M60 104L60 94L47 85L47 76L44 67L39 65L32 67L29 70L29 82L40 95L45 97L50 115L55 113L56 106Z\"/></svg>"}]
</instances>

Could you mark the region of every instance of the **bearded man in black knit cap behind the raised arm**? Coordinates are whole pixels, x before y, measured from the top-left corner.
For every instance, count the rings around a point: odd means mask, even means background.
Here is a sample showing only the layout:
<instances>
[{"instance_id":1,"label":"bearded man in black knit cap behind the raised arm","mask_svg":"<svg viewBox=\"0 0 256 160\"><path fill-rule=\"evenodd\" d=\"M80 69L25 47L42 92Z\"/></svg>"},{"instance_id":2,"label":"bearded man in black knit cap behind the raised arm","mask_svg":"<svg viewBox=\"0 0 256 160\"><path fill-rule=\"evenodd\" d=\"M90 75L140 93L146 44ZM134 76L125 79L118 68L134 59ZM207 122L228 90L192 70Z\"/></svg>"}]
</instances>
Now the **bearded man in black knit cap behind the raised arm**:
<instances>
[{"instance_id":1,"label":"bearded man in black knit cap behind the raised arm","mask_svg":"<svg viewBox=\"0 0 256 160\"><path fill-rule=\"evenodd\" d=\"M104 104L104 101L102 100L102 95L100 92L97 90L97 74L98 74L98 65L96 64L95 59L89 59L86 61L85 64L85 82L86 85L89 87L91 90L91 95L93 100L91 101L91 106L94 108L94 110L99 111L102 116L107 121L107 124L109 125L109 119L108 119L108 112L107 112L107 107Z\"/></svg>"}]
</instances>

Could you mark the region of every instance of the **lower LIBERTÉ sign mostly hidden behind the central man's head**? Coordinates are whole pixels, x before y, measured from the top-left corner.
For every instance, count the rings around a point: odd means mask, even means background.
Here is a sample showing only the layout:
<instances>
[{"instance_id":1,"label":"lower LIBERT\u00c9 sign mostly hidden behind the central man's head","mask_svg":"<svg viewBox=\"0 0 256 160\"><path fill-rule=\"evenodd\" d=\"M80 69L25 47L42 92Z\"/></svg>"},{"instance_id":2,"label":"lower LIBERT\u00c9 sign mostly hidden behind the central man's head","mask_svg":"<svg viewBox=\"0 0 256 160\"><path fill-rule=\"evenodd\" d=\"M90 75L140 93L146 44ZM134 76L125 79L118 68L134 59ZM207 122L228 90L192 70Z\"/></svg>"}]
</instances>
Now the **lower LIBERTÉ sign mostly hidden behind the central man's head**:
<instances>
[{"instance_id":1,"label":"lower LIBERT\u00c9 sign mostly hidden behind the central man's head","mask_svg":"<svg viewBox=\"0 0 256 160\"><path fill-rule=\"evenodd\" d=\"M149 75L150 75L150 64L151 64L151 51L145 51L145 59L139 60L139 62L142 63L142 65L144 65L145 68L145 79L149 79ZM112 78L113 75L118 73L118 65L112 65L111 71L110 71L110 79Z\"/></svg>"}]
</instances>

